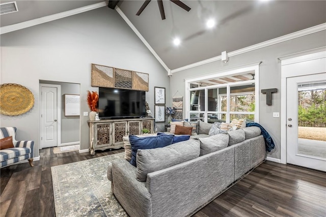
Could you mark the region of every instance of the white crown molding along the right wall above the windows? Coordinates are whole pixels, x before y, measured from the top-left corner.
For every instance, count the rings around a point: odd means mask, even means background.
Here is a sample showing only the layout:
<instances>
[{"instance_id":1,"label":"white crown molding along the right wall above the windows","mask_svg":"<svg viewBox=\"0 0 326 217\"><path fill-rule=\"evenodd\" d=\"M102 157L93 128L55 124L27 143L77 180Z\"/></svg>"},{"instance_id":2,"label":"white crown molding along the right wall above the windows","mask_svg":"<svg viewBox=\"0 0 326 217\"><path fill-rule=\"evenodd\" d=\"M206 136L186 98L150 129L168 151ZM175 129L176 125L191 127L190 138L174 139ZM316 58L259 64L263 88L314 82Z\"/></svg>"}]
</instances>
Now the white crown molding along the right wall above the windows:
<instances>
[{"instance_id":1,"label":"white crown molding along the right wall above the windows","mask_svg":"<svg viewBox=\"0 0 326 217\"><path fill-rule=\"evenodd\" d=\"M316 25L316 26L313 26L313 27L310 27L310 28L306 28L306 29L300 30L300 31L295 32L295 33L290 33L290 34L285 35L285 36L281 36L281 37L271 39L271 40L268 40L268 41L265 41L265 42L262 42L262 43L259 43L259 44L255 44L255 45L252 45L252 46L249 46L249 47L245 47L245 48L242 48L242 49L239 49L239 50L229 52L228 56L230 57L230 56L236 56L236 55L239 55L239 54L242 54L242 53L247 53L247 52L257 50L257 49L260 49L260 48L263 48L263 47L267 47L267 46L270 46L270 45L275 45L275 44L282 43L282 42L285 42L285 41L288 41L288 40L292 40L292 39L303 37L303 36L306 36L306 35L309 35L309 34L317 33L317 32L320 32L322 30L326 30L326 23L322 23L320 25ZM190 65L187 65L187 66L184 66L184 67L180 67L180 68L171 70L171 74L176 73L176 72L180 72L180 71L183 71L183 70L186 70L186 69L191 69L191 68L194 68L194 67L198 67L198 66L201 66L201 65L204 65L204 64L209 64L209 63L212 63L214 61L221 60L221 59L222 59L221 55L220 56L215 56L215 57L212 57L212 58L209 58L209 59L205 59L203 61L199 61L199 62L194 63L194 64L190 64Z\"/></svg>"}]
</instances>

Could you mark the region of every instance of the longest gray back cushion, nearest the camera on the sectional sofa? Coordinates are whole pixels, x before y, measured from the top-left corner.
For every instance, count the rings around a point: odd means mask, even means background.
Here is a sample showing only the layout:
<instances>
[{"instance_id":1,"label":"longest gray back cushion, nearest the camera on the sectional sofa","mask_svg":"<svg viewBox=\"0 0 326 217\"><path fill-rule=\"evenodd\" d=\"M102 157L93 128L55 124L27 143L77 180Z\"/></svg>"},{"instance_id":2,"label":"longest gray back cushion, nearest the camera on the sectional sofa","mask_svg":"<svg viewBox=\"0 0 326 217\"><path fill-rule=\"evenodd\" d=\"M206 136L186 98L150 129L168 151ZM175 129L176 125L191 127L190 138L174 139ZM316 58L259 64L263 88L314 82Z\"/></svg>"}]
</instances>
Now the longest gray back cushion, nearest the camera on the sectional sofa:
<instances>
[{"instance_id":1,"label":"longest gray back cushion, nearest the camera on the sectional sofa","mask_svg":"<svg viewBox=\"0 0 326 217\"><path fill-rule=\"evenodd\" d=\"M191 139L162 148L139 149L137 180L146 181L147 174L199 157L200 142Z\"/></svg>"}]
</instances>

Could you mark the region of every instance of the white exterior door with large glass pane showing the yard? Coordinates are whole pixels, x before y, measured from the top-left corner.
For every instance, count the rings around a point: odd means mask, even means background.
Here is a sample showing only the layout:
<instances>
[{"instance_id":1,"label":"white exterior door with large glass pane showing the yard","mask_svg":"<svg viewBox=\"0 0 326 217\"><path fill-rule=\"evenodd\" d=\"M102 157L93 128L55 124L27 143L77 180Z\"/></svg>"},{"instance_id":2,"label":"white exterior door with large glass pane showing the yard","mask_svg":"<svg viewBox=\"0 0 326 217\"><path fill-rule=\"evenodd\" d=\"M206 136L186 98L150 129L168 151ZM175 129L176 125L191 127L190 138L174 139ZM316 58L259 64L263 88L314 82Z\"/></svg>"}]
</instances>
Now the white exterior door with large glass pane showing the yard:
<instances>
[{"instance_id":1,"label":"white exterior door with large glass pane showing the yard","mask_svg":"<svg viewBox=\"0 0 326 217\"><path fill-rule=\"evenodd\" d=\"M326 73L287 78L287 163L326 171Z\"/></svg>"}]
</instances>

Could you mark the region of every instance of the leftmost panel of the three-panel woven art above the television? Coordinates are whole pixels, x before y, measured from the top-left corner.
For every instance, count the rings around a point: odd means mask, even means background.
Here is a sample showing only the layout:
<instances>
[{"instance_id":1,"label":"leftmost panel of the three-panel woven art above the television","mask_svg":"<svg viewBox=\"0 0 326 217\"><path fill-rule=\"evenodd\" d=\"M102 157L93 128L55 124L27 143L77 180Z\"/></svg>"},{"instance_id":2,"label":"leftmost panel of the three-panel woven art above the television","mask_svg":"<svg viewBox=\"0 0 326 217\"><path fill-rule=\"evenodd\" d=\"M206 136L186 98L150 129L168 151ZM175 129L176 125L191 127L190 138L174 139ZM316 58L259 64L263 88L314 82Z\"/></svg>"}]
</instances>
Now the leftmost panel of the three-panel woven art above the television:
<instances>
[{"instance_id":1,"label":"leftmost panel of the three-panel woven art above the television","mask_svg":"<svg viewBox=\"0 0 326 217\"><path fill-rule=\"evenodd\" d=\"M114 68L92 64L92 86L114 87Z\"/></svg>"}]
</instances>

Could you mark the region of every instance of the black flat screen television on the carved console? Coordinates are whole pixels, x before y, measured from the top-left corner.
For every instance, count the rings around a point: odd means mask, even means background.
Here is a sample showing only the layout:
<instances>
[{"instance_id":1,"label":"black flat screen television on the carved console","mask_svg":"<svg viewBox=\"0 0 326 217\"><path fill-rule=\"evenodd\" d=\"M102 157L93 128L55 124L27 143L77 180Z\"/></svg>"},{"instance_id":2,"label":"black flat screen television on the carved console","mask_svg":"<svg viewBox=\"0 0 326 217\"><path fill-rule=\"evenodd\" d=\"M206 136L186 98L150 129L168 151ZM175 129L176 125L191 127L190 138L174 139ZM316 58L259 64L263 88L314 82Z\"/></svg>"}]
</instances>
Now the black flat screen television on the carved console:
<instances>
[{"instance_id":1,"label":"black flat screen television on the carved console","mask_svg":"<svg viewBox=\"0 0 326 217\"><path fill-rule=\"evenodd\" d=\"M99 87L98 115L101 119L136 118L146 115L145 91Z\"/></svg>"}]
</instances>

